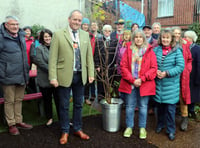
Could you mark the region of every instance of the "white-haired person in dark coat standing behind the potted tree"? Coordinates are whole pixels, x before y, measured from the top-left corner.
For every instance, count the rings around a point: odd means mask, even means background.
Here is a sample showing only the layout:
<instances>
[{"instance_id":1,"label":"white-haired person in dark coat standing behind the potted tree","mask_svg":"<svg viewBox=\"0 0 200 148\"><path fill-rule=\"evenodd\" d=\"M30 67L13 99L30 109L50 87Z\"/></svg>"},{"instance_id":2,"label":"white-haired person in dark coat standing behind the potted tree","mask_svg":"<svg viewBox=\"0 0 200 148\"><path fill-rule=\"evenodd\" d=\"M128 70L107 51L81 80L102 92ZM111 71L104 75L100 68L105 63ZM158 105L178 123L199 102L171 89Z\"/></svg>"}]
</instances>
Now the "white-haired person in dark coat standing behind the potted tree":
<instances>
[{"instance_id":1,"label":"white-haired person in dark coat standing behind the potted tree","mask_svg":"<svg viewBox=\"0 0 200 148\"><path fill-rule=\"evenodd\" d=\"M103 36L98 38L95 43L95 52L94 52L94 63L97 71L97 92L98 92L98 101L104 98L104 87L102 83L102 72L105 72L105 68L109 66L108 77L110 78L113 75L115 70L115 57L116 57L116 46L117 40L111 40L112 26L104 25L103 26Z\"/></svg>"}]
</instances>

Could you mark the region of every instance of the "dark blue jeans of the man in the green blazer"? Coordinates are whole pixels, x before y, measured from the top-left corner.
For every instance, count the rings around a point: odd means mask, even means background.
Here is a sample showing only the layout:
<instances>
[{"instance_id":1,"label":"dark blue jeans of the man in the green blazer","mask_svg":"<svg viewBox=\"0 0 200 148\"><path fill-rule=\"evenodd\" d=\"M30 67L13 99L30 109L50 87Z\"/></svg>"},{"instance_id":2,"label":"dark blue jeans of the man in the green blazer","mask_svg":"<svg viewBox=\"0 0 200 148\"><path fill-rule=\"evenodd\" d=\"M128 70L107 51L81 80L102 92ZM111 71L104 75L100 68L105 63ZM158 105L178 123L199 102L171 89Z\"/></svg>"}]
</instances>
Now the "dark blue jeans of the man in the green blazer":
<instances>
[{"instance_id":1,"label":"dark blue jeans of the man in the green blazer","mask_svg":"<svg viewBox=\"0 0 200 148\"><path fill-rule=\"evenodd\" d=\"M79 131L82 128L82 107L84 97L84 85L82 84L81 72L73 75L70 87L58 87L60 99L60 125L62 133L69 133L69 99L70 92L73 94L73 128Z\"/></svg>"}]
</instances>

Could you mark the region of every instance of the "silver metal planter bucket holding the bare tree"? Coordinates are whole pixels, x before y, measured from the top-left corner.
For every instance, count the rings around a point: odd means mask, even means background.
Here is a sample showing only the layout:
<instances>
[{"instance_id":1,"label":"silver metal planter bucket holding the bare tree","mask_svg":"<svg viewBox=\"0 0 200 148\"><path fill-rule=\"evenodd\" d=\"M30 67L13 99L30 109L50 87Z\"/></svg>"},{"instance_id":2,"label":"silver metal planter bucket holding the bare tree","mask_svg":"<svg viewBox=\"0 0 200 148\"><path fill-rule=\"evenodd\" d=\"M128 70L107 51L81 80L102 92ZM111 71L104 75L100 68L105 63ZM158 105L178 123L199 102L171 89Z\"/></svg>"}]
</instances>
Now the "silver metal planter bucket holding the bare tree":
<instances>
[{"instance_id":1,"label":"silver metal planter bucket holding the bare tree","mask_svg":"<svg viewBox=\"0 0 200 148\"><path fill-rule=\"evenodd\" d=\"M101 100L103 129L108 132L117 132L120 129L121 108L123 101L118 98L112 98L111 104Z\"/></svg>"}]
</instances>

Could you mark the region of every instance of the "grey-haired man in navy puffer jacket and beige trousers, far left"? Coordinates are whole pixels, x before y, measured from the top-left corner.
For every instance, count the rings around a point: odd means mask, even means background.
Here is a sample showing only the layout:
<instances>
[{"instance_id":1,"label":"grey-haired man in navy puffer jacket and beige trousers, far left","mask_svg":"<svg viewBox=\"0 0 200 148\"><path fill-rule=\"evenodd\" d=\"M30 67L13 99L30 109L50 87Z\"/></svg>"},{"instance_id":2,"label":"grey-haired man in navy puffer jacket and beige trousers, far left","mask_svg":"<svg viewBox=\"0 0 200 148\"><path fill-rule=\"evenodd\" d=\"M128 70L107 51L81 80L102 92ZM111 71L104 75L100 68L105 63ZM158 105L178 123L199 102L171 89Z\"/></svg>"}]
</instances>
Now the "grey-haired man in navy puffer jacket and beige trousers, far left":
<instances>
[{"instance_id":1,"label":"grey-haired man in navy puffer jacket and beige trousers, far left","mask_svg":"<svg viewBox=\"0 0 200 148\"><path fill-rule=\"evenodd\" d=\"M4 111L9 133L19 135L18 128L31 129L22 120L22 100L28 83L29 66L25 33L19 29L19 20L7 16L0 27L0 84L4 94Z\"/></svg>"}]
</instances>

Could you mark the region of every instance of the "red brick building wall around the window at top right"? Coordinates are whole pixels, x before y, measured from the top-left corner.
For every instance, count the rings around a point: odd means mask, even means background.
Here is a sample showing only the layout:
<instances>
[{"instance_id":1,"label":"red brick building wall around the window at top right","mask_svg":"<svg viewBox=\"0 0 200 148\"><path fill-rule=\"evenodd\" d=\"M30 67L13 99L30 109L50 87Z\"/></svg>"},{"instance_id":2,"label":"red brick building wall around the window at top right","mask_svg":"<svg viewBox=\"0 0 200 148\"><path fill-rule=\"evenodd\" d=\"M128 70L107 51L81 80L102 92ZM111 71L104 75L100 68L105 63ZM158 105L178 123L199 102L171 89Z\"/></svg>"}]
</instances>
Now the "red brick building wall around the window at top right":
<instances>
[{"instance_id":1,"label":"red brick building wall around the window at top right","mask_svg":"<svg viewBox=\"0 0 200 148\"><path fill-rule=\"evenodd\" d=\"M152 1L151 23L160 22L163 28L180 26L188 28L193 23L194 0L174 0L174 15L172 17L158 18L158 0ZM141 10L141 2L124 0L125 3L132 6L134 9ZM144 0L144 15L147 22L148 16L148 0Z\"/></svg>"}]
</instances>

